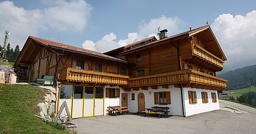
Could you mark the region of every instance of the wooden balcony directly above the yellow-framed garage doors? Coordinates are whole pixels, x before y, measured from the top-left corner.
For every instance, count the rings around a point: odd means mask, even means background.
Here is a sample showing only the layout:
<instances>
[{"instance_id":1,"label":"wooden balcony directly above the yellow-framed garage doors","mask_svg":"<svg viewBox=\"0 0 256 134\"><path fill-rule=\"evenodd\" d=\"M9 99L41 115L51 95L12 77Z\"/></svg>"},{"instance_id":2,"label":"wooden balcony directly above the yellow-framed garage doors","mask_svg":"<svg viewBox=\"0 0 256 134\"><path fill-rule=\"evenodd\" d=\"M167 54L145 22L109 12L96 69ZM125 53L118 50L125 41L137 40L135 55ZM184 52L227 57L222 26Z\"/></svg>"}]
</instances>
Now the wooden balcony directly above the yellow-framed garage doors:
<instances>
[{"instance_id":1,"label":"wooden balcony directly above the yellow-framed garage doors","mask_svg":"<svg viewBox=\"0 0 256 134\"><path fill-rule=\"evenodd\" d=\"M129 76L84 69L65 68L60 70L60 80L69 82L99 83L107 85L127 85Z\"/></svg>"}]
</instances>

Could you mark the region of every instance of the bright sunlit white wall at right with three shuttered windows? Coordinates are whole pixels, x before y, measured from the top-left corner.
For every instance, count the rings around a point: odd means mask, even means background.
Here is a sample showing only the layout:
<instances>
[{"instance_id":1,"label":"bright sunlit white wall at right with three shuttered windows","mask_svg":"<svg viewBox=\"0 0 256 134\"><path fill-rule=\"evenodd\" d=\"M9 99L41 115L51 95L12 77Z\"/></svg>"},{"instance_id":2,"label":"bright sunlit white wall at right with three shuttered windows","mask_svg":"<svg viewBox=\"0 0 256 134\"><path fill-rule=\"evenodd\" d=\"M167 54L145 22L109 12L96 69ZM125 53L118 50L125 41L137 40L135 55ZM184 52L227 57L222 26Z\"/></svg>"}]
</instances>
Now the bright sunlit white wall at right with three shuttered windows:
<instances>
[{"instance_id":1,"label":"bright sunlit white wall at right with three shuttered windows","mask_svg":"<svg viewBox=\"0 0 256 134\"><path fill-rule=\"evenodd\" d=\"M197 104L190 104L188 99L188 91L196 91L196 97L197 97ZM207 92L208 93L208 103L203 104L202 103L202 96L201 92ZM219 100L217 97L217 102L212 102L212 95L211 93L218 94L215 90L203 90L203 89L195 89L195 88L183 88L183 98L184 98L184 104L185 104L185 116L195 115L198 113L204 113L207 111L213 111L213 110L219 110Z\"/></svg>"}]
</instances>

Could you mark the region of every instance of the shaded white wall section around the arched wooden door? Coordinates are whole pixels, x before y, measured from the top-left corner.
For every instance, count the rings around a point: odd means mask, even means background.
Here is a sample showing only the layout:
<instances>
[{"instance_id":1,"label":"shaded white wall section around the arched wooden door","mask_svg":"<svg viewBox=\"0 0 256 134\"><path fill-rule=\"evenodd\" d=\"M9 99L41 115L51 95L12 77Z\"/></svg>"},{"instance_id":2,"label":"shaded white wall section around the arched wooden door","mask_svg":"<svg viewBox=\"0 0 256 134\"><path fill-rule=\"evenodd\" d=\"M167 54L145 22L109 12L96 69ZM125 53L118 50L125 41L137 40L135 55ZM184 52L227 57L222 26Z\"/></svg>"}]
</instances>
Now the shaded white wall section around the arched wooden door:
<instances>
[{"instance_id":1,"label":"shaded white wall section around the arched wooden door","mask_svg":"<svg viewBox=\"0 0 256 134\"><path fill-rule=\"evenodd\" d=\"M169 105L156 105L154 102L154 92L158 91L170 91L171 92L171 104ZM152 106L158 107L169 107L168 115L180 115L182 116L182 104L181 104L181 94L180 88L175 88L173 85L169 85L168 89L162 88L162 86L158 86L158 90L152 90L148 87L148 90L140 90L139 91L129 91L128 93L128 106L131 113L137 113L138 111L138 94L144 93L145 96L145 108L151 108ZM135 100L131 100L132 93L135 93Z\"/></svg>"}]
</instances>

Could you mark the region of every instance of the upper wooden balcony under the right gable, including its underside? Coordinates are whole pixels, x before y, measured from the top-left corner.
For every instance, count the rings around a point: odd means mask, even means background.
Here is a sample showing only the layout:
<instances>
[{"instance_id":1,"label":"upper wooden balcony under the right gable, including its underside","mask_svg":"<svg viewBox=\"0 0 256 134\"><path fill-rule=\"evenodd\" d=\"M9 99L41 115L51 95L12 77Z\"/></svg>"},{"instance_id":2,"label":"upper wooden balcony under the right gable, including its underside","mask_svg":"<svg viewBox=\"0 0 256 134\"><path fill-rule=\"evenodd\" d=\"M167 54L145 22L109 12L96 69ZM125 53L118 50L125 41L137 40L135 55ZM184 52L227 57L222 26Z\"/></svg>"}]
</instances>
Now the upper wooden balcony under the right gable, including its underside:
<instances>
[{"instance_id":1,"label":"upper wooden balcony under the right gable, including its underside","mask_svg":"<svg viewBox=\"0 0 256 134\"><path fill-rule=\"evenodd\" d=\"M188 60L192 64L196 63L200 66L205 66L206 68L210 68L214 71L221 71L223 69L224 61L221 58L216 57L212 53L208 52L201 46L194 46L192 51L192 58Z\"/></svg>"}]
</instances>

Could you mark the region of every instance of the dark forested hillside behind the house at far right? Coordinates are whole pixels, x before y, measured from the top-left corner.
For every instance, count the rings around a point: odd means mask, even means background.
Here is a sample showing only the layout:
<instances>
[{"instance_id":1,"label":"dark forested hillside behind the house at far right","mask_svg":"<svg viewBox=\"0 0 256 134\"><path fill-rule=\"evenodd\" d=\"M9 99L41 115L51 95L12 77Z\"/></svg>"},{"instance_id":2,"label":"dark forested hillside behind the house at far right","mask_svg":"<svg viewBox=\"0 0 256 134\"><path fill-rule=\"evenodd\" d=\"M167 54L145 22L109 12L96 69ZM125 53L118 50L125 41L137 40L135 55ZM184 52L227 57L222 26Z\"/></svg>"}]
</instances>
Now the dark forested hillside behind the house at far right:
<instances>
[{"instance_id":1,"label":"dark forested hillside behind the house at far right","mask_svg":"<svg viewBox=\"0 0 256 134\"><path fill-rule=\"evenodd\" d=\"M218 77L229 80L226 90L237 90L256 85L256 65L246 66L219 74Z\"/></svg>"}]
</instances>

